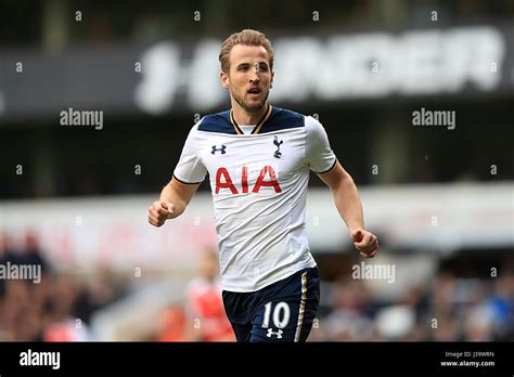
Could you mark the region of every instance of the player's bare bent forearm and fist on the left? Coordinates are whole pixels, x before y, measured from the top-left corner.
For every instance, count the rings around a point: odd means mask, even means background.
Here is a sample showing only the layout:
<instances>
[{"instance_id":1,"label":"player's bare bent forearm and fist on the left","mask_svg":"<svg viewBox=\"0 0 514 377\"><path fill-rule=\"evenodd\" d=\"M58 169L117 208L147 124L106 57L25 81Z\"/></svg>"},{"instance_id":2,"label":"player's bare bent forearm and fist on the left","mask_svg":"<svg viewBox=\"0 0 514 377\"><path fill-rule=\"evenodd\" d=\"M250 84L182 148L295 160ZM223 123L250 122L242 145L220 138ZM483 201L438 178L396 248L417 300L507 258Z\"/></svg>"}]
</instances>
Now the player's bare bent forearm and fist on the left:
<instances>
[{"instance_id":1,"label":"player's bare bent forearm and fist on the left","mask_svg":"<svg viewBox=\"0 0 514 377\"><path fill-rule=\"evenodd\" d=\"M168 219L175 219L183 213L200 183L181 183L175 178L164 186L160 198L149 208L149 222L160 226Z\"/></svg>"}]
</instances>

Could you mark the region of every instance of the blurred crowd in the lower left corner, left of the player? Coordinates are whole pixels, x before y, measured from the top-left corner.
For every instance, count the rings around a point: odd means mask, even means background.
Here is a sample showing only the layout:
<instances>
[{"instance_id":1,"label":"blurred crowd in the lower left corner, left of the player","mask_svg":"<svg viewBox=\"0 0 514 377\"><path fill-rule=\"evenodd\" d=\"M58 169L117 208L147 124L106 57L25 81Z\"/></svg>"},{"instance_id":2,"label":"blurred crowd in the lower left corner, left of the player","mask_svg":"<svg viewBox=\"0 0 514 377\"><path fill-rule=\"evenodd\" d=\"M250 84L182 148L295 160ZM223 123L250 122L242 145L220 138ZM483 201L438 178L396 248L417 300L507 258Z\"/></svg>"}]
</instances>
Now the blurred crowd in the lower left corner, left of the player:
<instances>
[{"instance_id":1,"label":"blurred crowd in the lower left corner, left of the player","mask_svg":"<svg viewBox=\"0 0 514 377\"><path fill-rule=\"evenodd\" d=\"M124 295L124 286L116 284L108 269L88 278L57 272L30 233L22 247L10 245L0 236L0 265L40 265L41 276L37 281L0 278L0 340L94 340L89 328L91 315Z\"/></svg>"}]
</instances>

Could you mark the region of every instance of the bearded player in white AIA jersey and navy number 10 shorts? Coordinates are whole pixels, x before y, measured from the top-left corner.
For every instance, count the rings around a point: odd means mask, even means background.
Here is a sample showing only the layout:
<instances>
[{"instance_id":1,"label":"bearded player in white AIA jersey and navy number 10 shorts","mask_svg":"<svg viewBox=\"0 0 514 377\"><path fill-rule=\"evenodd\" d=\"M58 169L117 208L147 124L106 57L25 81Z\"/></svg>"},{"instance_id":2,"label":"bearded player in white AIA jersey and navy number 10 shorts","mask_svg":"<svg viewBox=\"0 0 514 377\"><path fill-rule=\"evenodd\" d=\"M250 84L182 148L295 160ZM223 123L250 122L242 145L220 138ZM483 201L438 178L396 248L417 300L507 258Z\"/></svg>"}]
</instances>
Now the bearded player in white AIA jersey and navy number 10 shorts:
<instances>
[{"instance_id":1,"label":"bearded player in white AIA jersey and navy number 10 shorts","mask_svg":"<svg viewBox=\"0 0 514 377\"><path fill-rule=\"evenodd\" d=\"M266 36L231 35L219 61L231 109L192 128L149 222L180 216L208 173L223 304L237 341L305 341L320 299L305 226L309 170L332 190L360 253L375 256L378 242L364 230L357 187L321 123L268 104L274 74Z\"/></svg>"}]
</instances>

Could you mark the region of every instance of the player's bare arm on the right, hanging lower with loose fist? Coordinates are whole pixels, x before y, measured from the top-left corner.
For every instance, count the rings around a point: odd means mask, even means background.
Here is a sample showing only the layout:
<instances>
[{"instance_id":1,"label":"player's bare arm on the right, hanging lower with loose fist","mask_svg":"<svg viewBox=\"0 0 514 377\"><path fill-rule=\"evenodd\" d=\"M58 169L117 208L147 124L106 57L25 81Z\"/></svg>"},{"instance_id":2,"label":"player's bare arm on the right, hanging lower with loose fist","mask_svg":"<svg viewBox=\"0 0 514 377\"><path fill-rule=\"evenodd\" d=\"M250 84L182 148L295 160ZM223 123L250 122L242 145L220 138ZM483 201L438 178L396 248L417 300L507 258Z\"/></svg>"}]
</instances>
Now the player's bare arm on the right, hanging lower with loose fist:
<instances>
[{"instance_id":1,"label":"player's bare arm on the right, hanging lower with loose fist","mask_svg":"<svg viewBox=\"0 0 514 377\"><path fill-rule=\"evenodd\" d=\"M335 167L318 177L331 188L335 206L350 231L350 237L361 256L372 258L378 250L374 234L364 230L364 216L357 186L339 161Z\"/></svg>"}]
</instances>

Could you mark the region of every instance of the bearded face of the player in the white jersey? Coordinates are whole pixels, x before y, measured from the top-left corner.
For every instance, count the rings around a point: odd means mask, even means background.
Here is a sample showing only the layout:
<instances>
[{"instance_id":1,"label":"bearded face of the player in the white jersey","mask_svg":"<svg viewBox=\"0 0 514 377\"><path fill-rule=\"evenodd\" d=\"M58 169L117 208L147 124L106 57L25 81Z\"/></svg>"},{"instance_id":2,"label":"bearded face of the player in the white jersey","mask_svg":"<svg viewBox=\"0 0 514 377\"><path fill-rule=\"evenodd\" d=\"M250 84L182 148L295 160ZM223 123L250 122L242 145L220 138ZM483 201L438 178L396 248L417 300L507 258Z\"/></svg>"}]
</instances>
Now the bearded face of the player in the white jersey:
<instances>
[{"instance_id":1,"label":"bearded face of the player in the white jersey","mask_svg":"<svg viewBox=\"0 0 514 377\"><path fill-rule=\"evenodd\" d=\"M236 44L229 57L229 73L221 72L223 87L245 112L259 112L273 83L268 51L262 46Z\"/></svg>"}]
</instances>

